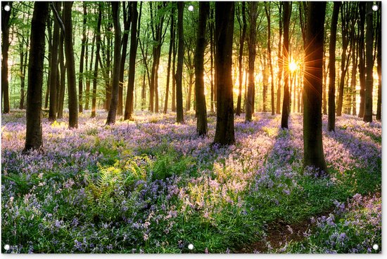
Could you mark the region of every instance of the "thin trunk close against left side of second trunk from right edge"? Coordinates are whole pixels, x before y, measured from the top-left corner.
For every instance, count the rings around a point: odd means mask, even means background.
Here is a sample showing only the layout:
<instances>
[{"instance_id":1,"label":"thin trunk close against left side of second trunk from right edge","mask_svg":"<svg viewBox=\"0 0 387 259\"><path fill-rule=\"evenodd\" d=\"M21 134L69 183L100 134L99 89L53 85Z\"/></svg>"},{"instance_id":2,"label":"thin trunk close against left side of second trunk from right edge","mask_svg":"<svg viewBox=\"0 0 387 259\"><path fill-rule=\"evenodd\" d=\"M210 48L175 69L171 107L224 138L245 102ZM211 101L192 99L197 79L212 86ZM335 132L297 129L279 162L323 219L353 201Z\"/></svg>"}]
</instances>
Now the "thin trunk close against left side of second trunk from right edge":
<instances>
[{"instance_id":1,"label":"thin trunk close against left side of second trunk from right edge","mask_svg":"<svg viewBox=\"0 0 387 259\"><path fill-rule=\"evenodd\" d=\"M364 20L365 20L365 13L366 13L366 2L360 1L359 2L359 79L360 79L360 108L359 108L359 114L358 117L362 118L364 117L364 103L365 103L365 61L364 61Z\"/></svg>"}]
</instances>

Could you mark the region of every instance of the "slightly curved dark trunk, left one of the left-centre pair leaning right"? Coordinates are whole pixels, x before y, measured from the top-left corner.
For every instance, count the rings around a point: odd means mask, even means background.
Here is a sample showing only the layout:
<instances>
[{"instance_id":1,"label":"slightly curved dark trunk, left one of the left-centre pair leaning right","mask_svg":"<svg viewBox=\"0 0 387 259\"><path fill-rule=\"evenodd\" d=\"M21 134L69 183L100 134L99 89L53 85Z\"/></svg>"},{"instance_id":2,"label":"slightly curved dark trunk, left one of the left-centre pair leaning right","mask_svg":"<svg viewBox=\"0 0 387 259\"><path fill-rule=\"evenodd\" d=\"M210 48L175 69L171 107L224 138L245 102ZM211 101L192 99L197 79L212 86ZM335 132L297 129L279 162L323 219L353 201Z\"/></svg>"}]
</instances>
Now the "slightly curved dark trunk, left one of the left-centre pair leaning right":
<instances>
[{"instance_id":1,"label":"slightly curved dark trunk, left one of the left-centre pair leaning right","mask_svg":"<svg viewBox=\"0 0 387 259\"><path fill-rule=\"evenodd\" d=\"M121 60L121 27L120 27L120 2L111 2L114 26L114 58L113 58L113 84L107 125L115 124L118 105L118 84L120 84L120 60ZM134 26L136 28L136 26ZM136 39L134 39L136 44Z\"/></svg>"}]
</instances>

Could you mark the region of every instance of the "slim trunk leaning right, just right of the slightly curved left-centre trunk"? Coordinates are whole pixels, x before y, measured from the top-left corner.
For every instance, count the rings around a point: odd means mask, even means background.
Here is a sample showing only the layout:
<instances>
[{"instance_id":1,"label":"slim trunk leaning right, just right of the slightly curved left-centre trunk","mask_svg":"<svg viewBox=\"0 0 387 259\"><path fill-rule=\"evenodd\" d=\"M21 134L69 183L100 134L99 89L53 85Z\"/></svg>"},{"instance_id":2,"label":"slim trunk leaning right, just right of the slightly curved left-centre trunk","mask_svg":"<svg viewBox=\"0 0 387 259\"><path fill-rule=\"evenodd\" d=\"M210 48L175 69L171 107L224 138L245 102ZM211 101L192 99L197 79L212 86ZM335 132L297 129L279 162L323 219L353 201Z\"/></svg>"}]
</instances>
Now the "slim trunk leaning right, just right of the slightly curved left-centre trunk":
<instances>
[{"instance_id":1,"label":"slim trunk leaning right, just right of the slightly curved left-centre trunk","mask_svg":"<svg viewBox=\"0 0 387 259\"><path fill-rule=\"evenodd\" d=\"M130 53L129 53L129 79L127 84L127 99L125 102L125 117L124 119L133 119L133 91L134 91L134 76L136 67L137 53L137 2L132 3L131 17L132 30L130 32Z\"/></svg>"}]
</instances>

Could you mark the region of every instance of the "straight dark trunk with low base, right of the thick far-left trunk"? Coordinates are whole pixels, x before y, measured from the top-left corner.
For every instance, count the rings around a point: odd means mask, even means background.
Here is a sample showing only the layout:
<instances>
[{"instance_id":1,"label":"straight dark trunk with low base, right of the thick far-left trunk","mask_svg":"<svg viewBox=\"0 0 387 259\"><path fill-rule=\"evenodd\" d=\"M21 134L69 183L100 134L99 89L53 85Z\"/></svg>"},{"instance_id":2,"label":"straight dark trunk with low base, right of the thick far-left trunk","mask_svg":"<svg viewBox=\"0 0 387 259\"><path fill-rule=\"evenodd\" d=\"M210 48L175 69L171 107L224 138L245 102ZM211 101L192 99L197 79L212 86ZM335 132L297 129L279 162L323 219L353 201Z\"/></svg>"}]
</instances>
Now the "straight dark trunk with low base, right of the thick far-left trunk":
<instances>
[{"instance_id":1,"label":"straight dark trunk with low base, right of the thick far-left trunk","mask_svg":"<svg viewBox=\"0 0 387 259\"><path fill-rule=\"evenodd\" d=\"M75 84L75 60L74 48L72 45L72 4L72 1L63 3L63 23L65 26L65 57L68 78L68 127L78 128L77 86Z\"/></svg>"}]
</instances>

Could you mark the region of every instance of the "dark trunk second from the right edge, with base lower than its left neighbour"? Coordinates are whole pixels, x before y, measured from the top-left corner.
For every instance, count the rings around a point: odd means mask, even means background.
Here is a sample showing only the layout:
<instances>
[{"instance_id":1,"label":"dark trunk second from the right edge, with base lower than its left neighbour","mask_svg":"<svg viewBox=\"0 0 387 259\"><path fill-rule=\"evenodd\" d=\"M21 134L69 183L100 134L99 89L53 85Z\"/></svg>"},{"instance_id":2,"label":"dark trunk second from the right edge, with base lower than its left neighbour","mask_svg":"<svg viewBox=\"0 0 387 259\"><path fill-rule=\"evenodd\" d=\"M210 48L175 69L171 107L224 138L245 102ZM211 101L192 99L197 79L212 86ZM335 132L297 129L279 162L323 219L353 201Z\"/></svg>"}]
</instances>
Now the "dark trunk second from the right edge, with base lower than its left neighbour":
<instances>
[{"instance_id":1,"label":"dark trunk second from the right edge, with base lower than its left neighbour","mask_svg":"<svg viewBox=\"0 0 387 259\"><path fill-rule=\"evenodd\" d=\"M374 77L372 69L374 68L374 58L372 55L372 46L374 44L374 23L372 10L372 1L366 4L366 32L365 32L365 62L366 62L366 80L365 80L365 102L364 102L364 117L363 121L372 122L372 88L374 84Z\"/></svg>"}]
</instances>

